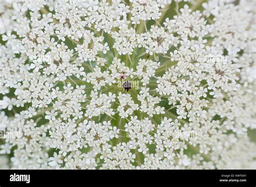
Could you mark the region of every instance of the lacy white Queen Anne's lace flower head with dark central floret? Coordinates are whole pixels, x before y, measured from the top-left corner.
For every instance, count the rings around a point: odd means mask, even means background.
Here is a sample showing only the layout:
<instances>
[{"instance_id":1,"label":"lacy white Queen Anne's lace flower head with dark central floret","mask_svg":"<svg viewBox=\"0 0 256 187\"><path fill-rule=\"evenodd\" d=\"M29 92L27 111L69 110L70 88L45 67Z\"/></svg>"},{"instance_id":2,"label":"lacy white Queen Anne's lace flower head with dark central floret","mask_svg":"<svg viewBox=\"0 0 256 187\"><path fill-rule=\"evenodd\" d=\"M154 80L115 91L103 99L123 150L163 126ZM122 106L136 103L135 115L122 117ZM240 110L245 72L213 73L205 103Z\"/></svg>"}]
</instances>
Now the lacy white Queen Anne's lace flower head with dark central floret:
<instances>
[{"instance_id":1,"label":"lacy white Queen Anne's lace flower head with dark central floret","mask_svg":"<svg viewBox=\"0 0 256 187\"><path fill-rule=\"evenodd\" d=\"M2 0L1 167L255 169L255 5Z\"/></svg>"}]
</instances>

